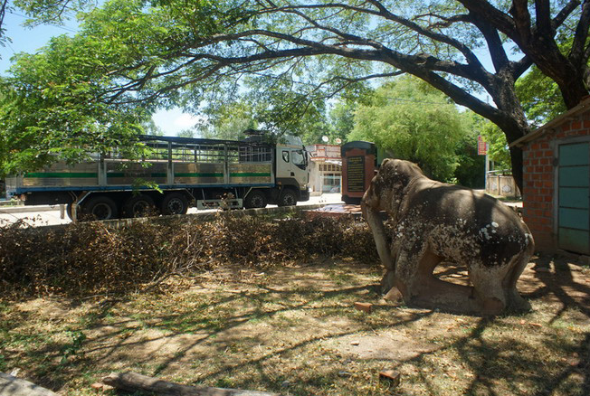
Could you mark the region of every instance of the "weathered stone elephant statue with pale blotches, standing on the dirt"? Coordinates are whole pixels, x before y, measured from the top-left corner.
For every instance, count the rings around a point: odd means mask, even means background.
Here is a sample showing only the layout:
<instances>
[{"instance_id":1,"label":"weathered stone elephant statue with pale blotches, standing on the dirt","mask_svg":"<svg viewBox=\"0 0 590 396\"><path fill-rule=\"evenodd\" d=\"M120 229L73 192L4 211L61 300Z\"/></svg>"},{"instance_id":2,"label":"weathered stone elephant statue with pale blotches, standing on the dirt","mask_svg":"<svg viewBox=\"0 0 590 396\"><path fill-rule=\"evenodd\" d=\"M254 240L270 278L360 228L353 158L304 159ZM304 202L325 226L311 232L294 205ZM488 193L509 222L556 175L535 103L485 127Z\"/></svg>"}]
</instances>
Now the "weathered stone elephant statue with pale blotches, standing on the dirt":
<instances>
[{"instance_id":1,"label":"weathered stone elephant statue with pale blotches, standing on the dirt","mask_svg":"<svg viewBox=\"0 0 590 396\"><path fill-rule=\"evenodd\" d=\"M433 181L418 165L397 159L383 161L361 206L385 266L384 292L394 288L414 306L483 316L530 309L516 284L535 244L508 206ZM385 232L380 211L393 222L393 235ZM434 277L441 262L464 264L472 287Z\"/></svg>"}]
</instances>

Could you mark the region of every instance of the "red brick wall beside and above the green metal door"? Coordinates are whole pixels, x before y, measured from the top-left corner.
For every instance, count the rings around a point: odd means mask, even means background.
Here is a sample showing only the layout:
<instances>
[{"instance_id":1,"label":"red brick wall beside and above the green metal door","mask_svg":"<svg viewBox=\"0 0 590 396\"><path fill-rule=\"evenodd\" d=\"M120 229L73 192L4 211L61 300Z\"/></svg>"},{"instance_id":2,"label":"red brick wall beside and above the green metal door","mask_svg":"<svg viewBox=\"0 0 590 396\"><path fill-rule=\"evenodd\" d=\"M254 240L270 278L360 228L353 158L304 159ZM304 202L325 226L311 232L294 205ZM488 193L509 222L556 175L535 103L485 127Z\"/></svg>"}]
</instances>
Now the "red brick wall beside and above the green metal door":
<instances>
[{"instance_id":1,"label":"red brick wall beside and above the green metal door","mask_svg":"<svg viewBox=\"0 0 590 396\"><path fill-rule=\"evenodd\" d=\"M557 202L554 159L557 145L554 140L566 142L571 137L590 135L590 112L574 119L565 119L552 132L538 137L523 147L524 191L523 218L535 238L537 250L556 250L557 235L554 233L554 204ZM555 147L555 148L554 148Z\"/></svg>"}]
</instances>

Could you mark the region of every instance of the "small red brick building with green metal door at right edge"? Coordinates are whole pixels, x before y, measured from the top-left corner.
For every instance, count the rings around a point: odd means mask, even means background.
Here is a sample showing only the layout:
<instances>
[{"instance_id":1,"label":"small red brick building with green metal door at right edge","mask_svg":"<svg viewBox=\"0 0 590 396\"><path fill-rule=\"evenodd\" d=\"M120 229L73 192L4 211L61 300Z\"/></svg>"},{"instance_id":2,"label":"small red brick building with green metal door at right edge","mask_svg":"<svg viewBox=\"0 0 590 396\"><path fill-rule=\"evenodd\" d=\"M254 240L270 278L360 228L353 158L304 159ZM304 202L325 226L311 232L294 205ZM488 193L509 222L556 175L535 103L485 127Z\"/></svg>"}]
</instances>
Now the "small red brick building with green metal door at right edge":
<instances>
[{"instance_id":1,"label":"small red brick building with green metal door at right edge","mask_svg":"<svg viewBox=\"0 0 590 396\"><path fill-rule=\"evenodd\" d=\"M538 250L590 254L590 99L521 137L523 218Z\"/></svg>"}]
</instances>

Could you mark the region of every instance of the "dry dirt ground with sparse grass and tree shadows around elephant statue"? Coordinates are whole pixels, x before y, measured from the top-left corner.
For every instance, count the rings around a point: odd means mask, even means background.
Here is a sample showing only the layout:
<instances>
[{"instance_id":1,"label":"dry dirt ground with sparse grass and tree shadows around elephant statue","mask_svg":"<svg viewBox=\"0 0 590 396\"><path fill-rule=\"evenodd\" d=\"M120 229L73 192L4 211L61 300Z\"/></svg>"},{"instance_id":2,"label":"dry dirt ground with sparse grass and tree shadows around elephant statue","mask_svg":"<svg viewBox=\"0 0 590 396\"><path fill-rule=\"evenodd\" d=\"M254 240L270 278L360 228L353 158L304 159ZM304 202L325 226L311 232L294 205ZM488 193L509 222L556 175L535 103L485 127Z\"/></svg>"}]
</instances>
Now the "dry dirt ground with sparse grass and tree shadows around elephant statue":
<instances>
[{"instance_id":1,"label":"dry dirt ground with sparse grass and tree shadows around elephant statue","mask_svg":"<svg viewBox=\"0 0 590 396\"><path fill-rule=\"evenodd\" d=\"M590 269L571 261L535 258L518 285L533 310L492 319L387 302L378 268L332 259L124 298L0 300L0 371L62 395L115 394L90 385L127 371L284 395L587 395Z\"/></svg>"}]
</instances>

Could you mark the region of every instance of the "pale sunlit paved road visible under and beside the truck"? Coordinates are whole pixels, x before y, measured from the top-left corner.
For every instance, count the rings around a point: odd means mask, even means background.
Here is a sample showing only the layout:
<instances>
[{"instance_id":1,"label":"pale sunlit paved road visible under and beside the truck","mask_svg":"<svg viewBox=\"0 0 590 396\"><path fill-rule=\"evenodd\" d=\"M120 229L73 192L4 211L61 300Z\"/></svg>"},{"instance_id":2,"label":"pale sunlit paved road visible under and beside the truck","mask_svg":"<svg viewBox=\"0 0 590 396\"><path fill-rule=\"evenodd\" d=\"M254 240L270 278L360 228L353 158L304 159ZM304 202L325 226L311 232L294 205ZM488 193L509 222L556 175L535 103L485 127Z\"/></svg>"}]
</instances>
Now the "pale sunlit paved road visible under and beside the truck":
<instances>
[{"instance_id":1,"label":"pale sunlit paved road visible under and beside the truck","mask_svg":"<svg viewBox=\"0 0 590 396\"><path fill-rule=\"evenodd\" d=\"M298 205L309 205L317 203L341 203L339 193L325 193L319 196L312 196L308 202L298 203ZM273 207L276 205L269 205ZM188 210L189 213L196 213L196 208ZM212 212L212 211L198 211ZM57 206L24 206L21 208L0 206L0 226L22 220L26 224L33 226L65 224L71 222L67 215L64 219L60 215L60 207Z\"/></svg>"}]
</instances>

